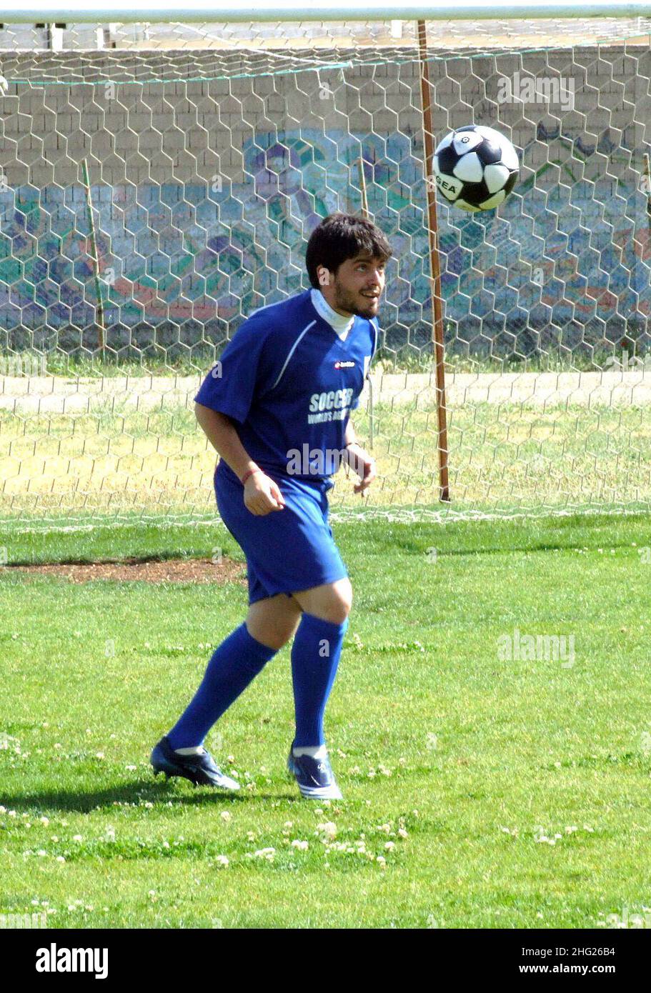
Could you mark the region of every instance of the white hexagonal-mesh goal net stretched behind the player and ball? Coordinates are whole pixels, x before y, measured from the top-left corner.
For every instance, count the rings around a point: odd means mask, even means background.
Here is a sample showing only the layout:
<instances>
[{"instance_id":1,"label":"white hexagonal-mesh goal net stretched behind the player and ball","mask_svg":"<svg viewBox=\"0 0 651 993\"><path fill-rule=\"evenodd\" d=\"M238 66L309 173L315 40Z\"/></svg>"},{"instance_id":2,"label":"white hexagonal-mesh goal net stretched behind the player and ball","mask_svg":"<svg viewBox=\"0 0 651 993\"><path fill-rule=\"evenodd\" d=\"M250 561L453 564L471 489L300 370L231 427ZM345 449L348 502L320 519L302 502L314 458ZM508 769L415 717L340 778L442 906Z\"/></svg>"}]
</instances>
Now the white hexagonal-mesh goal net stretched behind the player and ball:
<instances>
[{"instance_id":1,"label":"white hexagonal-mesh goal net stretched behind the player and ball","mask_svg":"<svg viewBox=\"0 0 651 993\"><path fill-rule=\"evenodd\" d=\"M198 386L365 202L395 249L354 417L380 475L333 511L649 507L651 20L425 28L0 25L0 517L214 519ZM434 145L488 124L521 160L497 211L438 199L434 251L423 72Z\"/></svg>"}]
</instances>

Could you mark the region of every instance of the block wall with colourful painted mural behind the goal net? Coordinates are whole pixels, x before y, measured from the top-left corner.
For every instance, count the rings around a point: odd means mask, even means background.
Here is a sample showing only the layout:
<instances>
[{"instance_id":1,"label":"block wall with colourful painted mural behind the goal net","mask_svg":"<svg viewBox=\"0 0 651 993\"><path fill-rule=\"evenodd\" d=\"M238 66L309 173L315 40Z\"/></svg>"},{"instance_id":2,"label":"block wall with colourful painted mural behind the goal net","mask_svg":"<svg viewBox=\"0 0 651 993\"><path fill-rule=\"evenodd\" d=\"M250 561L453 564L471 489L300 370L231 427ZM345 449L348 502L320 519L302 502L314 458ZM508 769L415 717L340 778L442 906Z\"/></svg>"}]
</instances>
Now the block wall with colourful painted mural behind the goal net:
<instances>
[{"instance_id":1,"label":"block wall with colourful painted mural behind the goal net","mask_svg":"<svg viewBox=\"0 0 651 993\"><path fill-rule=\"evenodd\" d=\"M450 352L649 344L649 58L613 48L432 60L435 138L487 123L522 160L498 212L439 200ZM384 345L428 348L417 64L112 83L108 59L88 56L81 84L44 72L0 102L0 348L96 347L83 158L118 355L219 349L252 309L306 287L310 231L361 207L360 158L370 212L395 247ZM25 77L20 56L0 58L0 71Z\"/></svg>"}]
</instances>

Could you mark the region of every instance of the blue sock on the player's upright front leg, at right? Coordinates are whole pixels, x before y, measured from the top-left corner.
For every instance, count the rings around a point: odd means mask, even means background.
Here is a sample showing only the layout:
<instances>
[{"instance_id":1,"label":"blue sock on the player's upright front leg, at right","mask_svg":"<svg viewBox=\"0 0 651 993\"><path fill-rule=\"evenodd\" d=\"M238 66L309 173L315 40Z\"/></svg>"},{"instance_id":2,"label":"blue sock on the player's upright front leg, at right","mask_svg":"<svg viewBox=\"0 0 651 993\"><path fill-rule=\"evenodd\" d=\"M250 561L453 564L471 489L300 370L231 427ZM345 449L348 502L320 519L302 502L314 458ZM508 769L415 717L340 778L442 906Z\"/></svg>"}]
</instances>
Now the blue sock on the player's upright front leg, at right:
<instances>
[{"instance_id":1,"label":"blue sock on the player's upright front leg, at right","mask_svg":"<svg viewBox=\"0 0 651 993\"><path fill-rule=\"evenodd\" d=\"M296 737L294 747L323 745L323 713L332 689L348 619L343 624L303 614L291 648Z\"/></svg>"}]
</instances>

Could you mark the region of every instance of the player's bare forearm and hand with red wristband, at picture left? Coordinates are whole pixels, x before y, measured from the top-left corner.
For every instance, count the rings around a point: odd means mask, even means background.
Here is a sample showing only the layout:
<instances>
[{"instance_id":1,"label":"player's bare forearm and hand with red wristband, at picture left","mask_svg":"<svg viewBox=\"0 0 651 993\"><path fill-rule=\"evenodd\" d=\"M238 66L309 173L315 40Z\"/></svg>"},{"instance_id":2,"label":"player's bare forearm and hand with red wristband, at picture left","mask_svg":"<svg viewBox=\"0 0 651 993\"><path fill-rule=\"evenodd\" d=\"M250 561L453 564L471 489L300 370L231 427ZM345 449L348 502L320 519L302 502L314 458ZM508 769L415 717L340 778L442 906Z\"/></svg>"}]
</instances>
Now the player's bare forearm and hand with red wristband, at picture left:
<instances>
[{"instance_id":1,"label":"player's bare forearm and hand with red wristband, at picture left","mask_svg":"<svg viewBox=\"0 0 651 993\"><path fill-rule=\"evenodd\" d=\"M282 510L284 499L278 486L247 455L233 421L218 410L195 403L195 414L213 448L244 483L244 506L256 516ZM248 475L247 475L248 474Z\"/></svg>"}]
</instances>

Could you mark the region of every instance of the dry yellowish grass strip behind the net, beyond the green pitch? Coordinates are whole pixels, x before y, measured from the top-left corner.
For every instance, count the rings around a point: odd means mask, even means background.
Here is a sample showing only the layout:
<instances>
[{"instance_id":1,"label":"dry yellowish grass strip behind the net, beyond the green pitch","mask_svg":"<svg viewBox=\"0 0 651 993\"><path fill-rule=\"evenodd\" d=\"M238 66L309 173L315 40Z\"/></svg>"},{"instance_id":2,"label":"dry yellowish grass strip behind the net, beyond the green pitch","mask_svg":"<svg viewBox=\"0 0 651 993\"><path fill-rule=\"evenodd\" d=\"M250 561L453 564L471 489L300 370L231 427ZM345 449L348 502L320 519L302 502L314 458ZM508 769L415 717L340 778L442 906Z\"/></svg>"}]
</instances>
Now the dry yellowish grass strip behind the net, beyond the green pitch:
<instances>
[{"instance_id":1,"label":"dry yellowish grass strip behind the net, beyond the green pitch","mask_svg":"<svg viewBox=\"0 0 651 993\"><path fill-rule=\"evenodd\" d=\"M214 510L216 454L194 408L138 410L90 401L86 413L0 418L0 516L62 507L112 514L136 508L170 515ZM354 418L368 440L370 420ZM373 452L378 507L431 504L438 496L436 411L420 398L378 403ZM463 509L651 501L651 418L643 406L473 403L448 416L450 490ZM332 504L359 506L338 478Z\"/></svg>"}]
</instances>

